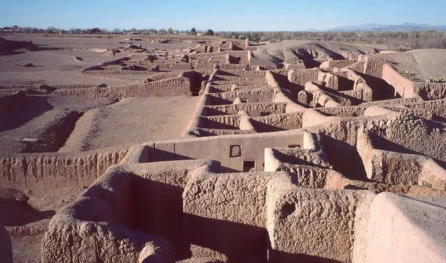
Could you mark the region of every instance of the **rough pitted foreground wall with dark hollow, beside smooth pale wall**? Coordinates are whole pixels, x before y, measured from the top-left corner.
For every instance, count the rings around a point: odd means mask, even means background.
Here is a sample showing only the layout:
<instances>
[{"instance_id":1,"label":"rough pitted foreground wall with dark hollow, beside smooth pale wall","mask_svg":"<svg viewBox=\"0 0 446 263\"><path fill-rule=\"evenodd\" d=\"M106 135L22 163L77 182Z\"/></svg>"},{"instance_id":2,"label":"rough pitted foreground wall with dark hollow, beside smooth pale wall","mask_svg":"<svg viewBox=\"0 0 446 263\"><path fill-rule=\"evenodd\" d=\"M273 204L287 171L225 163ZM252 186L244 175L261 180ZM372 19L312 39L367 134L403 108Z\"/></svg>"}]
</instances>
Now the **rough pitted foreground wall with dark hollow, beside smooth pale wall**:
<instances>
[{"instance_id":1,"label":"rough pitted foreground wall with dark hollow, beside smooth pale wall","mask_svg":"<svg viewBox=\"0 0 446 263\"><path fill-rule=\"evenodd\" d=\"M351 262L363 231L355 227L362 219L357 210L366 210L374 193L306 189L281 181L268 183L268 262Z\"/></svg>"}]
</instances>

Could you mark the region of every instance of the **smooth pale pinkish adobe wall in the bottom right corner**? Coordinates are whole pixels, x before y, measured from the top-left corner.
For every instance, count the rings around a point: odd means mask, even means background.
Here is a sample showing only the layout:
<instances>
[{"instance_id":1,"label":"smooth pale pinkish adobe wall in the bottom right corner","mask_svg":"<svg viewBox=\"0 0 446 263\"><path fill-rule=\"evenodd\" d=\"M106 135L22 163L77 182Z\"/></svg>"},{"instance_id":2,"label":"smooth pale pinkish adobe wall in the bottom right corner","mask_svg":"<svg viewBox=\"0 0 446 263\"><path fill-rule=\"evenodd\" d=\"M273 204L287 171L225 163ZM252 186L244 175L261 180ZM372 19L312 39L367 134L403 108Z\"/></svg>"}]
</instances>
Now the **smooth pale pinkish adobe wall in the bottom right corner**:
<instances>
[{"instance_id":1,"label":"smooth pale pinkish adobe wall in the bottom right corner","mask_svg":"<svg viewBox=\"0 0 446 263\"><path fill-rule=\"evenodd\" d=\"M371 204L365 262L445 262L445 198L380 193Z\"/></svg>"}]
</instances>

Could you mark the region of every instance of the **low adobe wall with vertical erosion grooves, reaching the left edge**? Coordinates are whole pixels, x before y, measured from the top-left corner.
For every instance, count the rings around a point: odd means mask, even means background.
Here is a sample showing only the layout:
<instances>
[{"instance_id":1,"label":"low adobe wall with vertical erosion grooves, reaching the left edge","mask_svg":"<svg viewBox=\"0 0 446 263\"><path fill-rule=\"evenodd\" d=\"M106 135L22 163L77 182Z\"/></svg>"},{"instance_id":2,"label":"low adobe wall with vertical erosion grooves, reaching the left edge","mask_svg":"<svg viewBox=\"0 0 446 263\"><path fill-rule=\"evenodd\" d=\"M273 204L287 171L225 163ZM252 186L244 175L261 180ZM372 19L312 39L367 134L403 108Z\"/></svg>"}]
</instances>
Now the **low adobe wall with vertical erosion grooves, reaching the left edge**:
<instances>
[{"instance_id":1,"label":"low adobe wall with vertical erosion grooves, reaching the left edge","mask_svg":"<svg viewBox=\"0 0 446 263\"><path fill-rule=\"evenodd\" d=\"M0 159L0 184L19 190L89 186L109 166L118 164L127 148L79 153L14 154Z\"/></svg>"}]
</instances>

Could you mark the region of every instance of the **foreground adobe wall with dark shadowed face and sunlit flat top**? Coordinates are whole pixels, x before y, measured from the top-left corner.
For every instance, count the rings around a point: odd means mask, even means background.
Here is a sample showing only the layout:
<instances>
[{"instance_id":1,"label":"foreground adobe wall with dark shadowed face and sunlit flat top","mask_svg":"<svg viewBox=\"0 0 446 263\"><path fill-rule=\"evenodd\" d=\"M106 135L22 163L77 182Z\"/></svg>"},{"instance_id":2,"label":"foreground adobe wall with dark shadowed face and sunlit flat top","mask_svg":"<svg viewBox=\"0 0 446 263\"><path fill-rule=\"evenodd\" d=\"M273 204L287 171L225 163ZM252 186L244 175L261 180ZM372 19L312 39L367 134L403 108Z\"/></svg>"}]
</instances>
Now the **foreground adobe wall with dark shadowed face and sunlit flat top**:
<instances>
[{"instance_id":1,"label":"foreground adobe wall with dark shadowed face and sunlit flat top","mask_svg":"<svg viewBox=\"0 0 446 263\"><path fill-rule=\"evenodd\" d=\"M217 161L187 160L116 166L132 174L132 193L136 196L134 229L169 241L178 252L182 245L183 191L192 173L199 167L218 172Z\"/></svg>"}]
</instances>

